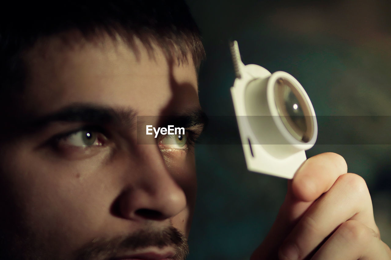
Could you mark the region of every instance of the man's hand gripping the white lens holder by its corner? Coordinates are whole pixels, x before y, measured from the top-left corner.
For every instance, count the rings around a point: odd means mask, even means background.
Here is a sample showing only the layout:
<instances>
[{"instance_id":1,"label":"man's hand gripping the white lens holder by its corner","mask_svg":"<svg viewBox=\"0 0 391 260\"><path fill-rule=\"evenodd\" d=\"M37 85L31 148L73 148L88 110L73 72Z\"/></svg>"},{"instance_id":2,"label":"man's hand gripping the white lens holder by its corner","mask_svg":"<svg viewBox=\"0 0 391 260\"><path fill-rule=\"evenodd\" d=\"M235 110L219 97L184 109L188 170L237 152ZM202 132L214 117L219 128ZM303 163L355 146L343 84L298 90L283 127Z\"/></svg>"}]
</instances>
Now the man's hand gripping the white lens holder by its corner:
<instances>
[{"instance_id":1,"label":"man's hand gripping the white lens holder by its corner","mask_svg":"<svg viewBox=\"0 0 391 260\"><path fill-rule=\"evenodd\" d=\"M380 240L363 178L347 173L335 153L309 158L288 182L285 201L251 260L383 260L390 248Z\"/></svg>"}]
</instances>

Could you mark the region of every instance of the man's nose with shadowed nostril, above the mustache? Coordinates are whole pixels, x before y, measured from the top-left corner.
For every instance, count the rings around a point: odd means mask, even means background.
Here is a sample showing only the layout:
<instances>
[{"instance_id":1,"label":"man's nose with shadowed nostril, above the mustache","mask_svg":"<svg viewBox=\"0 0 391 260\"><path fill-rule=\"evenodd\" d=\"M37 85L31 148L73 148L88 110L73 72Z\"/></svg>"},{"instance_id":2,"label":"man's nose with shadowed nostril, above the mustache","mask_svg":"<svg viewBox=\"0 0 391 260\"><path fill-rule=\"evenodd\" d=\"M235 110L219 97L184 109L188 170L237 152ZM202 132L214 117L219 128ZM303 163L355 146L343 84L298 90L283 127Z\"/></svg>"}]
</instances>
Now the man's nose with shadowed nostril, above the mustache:
<instances>
[{"instance_id":1,"label":"man's nose with shadowed nostril, above the mustache","mask_svg":"<svg viewBox=\"0 0 391 260\"><path fill-rule=\"evenodd\" d=\"M144 156L127 169L129 183L117 199L118 213L126 219L164 220L186 208L185 192L167 169L160 151L151 146L145 145Z\"/></svg>"}]
</instances>

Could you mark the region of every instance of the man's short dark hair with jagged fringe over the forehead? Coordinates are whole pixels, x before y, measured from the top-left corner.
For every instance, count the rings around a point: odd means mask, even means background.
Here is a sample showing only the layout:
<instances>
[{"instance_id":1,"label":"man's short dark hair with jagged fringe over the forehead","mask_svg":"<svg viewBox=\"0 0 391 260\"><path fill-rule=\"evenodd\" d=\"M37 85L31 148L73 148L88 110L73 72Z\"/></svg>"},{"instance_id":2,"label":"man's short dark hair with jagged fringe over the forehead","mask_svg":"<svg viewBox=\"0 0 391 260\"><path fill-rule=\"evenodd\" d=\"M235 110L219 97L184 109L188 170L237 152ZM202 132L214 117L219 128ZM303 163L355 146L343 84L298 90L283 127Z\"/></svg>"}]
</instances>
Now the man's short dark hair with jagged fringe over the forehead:
<instances>
[{"instance_id":1,"label":"man's short dark hair with jagged fringe over the forehead","mask_svg":"<svg viewBox=\"0 0 391 260\"><path fill-rule=\"evenodd\" d=\"M136 36L149 52L156 43L179 63L190 54L196 68L204 58L199 29L182 0L17 2L0 11L1 95L23 87L23 54L39 39L74 30L87 40L120 36L132 48Z\"/></svg>"}]
</instances>

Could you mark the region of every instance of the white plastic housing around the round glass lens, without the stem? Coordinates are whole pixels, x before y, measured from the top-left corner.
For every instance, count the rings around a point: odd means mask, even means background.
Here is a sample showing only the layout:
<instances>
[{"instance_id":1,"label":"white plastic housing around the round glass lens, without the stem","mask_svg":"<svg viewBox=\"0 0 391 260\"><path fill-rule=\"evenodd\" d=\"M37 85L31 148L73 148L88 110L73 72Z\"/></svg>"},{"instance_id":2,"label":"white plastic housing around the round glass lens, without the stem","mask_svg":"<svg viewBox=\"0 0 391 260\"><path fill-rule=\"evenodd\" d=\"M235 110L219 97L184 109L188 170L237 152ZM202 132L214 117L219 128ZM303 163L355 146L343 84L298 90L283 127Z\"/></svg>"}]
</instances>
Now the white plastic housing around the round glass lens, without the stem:
<instances>
[{"instance_id":1,"label":"white plastic housing around the round glass lens, without the stem","mask_svg":"<svg viewBox=\"0 0 391 260\"><path fill-rule=\"evenodd\" d=\"M247 168L257 173L292 179L307 159L305 150L315 144L317 137L315 111L310 99L301 84L286 72L277 71L271 74L267 69L255 64L244 66L240 62L239 65L240 78L236 78L231 87L231 95ZM313 116L314 131L312 138L306 143L295 139L278 115L274 101L274 82L280 77L293 82L309 104L312 115L306 116ZM254 121L257 117L251 116L267 117L266 121ZM262 140L265 138L278 142L264 144Z\"/></svg>"}]
</instances>

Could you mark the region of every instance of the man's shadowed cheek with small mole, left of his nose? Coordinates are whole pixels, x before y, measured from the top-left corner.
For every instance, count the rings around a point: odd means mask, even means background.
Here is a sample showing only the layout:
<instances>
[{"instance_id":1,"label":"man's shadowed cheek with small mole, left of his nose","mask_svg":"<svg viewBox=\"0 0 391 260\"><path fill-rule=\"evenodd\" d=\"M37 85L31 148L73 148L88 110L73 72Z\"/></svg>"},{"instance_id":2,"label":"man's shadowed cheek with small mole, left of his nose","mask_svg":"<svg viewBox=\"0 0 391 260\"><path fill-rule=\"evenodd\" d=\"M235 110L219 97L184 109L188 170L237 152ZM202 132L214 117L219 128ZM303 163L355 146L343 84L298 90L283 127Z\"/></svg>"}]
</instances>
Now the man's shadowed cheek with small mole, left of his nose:
<instances>
[{"instance_id":1,"label":"man's shadowed cheek with small mole, left of his nose","mask_svg":"<svg viewBox=\"0 0 391 260\"><path fill-rule=\"evenodd\" d=\"M107 182L85 173L93 176L99 166L92 161L81 161L79 166L60 164L29 151L10 150L1 162L1 183L7 186L1 191L1 205L5 204L3 198L8 198L7 212L14 216L9 217L9 225L21 236L32 233L48 247L64 253L97 235L111 198L102 185Z\"/></svg>"}]
</instances>

